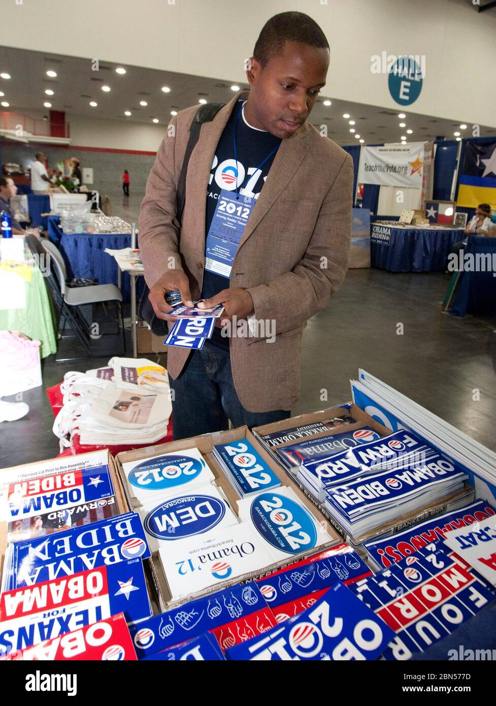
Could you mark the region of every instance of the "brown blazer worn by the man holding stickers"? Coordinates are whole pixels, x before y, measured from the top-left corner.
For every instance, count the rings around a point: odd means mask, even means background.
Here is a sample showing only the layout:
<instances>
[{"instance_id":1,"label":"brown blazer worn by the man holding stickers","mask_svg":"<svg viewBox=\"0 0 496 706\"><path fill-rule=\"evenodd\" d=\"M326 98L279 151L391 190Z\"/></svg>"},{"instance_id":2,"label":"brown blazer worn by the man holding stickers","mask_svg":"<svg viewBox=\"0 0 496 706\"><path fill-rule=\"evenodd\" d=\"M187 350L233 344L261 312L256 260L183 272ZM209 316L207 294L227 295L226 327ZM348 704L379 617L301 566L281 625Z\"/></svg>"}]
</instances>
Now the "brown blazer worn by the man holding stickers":
<instances>
[{"instance_id":1,"label":"brown blazer worn by the man holding stickers","mask_svg":"<svg viewBox=\"0 0 496 706\"><path fill-rule=\"evenodd\" d=\"M169 124L141 204L139 245L147 285L168 268L181 268L193 299L200 298L205 260L207 184L217 143L238 93L202 125L188 165L181 237L176 184L189 127L198 106ZM243 287L255 318L275 321L276 337L231 337L236 392L249 412L291 409L300 395L301 337L308 319L329 303L348 268L353 162L332 140L306 123L282 140L236 253L229 286ZM227 286L227 282L226 282ZM188 349L169 347L167 369L176 378Z\"/></svg>"}]
</instances>

